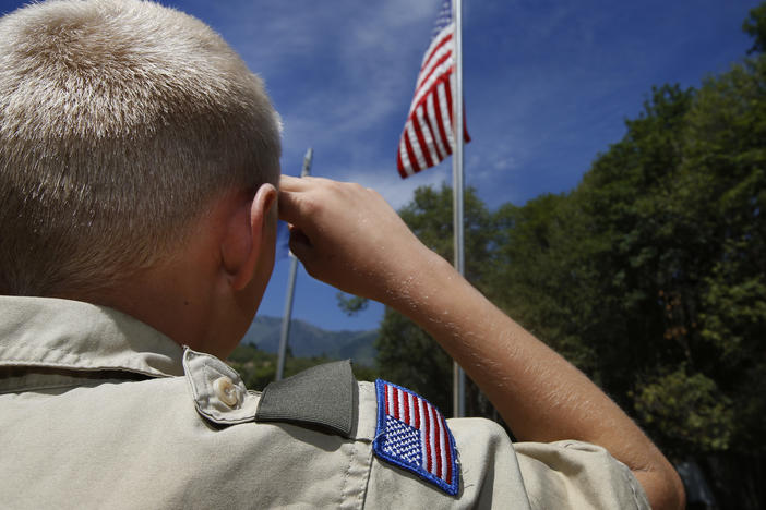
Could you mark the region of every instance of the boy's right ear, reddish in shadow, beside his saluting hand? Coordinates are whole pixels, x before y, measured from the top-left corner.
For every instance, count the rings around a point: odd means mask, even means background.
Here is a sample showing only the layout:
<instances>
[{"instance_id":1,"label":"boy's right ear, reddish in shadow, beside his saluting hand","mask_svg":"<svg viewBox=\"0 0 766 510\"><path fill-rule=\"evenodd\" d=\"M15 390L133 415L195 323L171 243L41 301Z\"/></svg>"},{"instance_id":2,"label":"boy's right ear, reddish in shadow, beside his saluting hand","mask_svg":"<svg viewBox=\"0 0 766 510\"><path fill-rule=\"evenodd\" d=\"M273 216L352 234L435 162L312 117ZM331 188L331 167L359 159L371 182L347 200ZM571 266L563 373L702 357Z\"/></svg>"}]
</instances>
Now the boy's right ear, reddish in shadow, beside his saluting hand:
<instances>
[{"instance_id":1,"label":"boy's right ear, reddish in shadow, beside his saluting hand","mask_svg":"<svg viewBox=\"0 0 766 510\"><path fill-rule=\"evenodd\" d=\"M244 289L254 278L259 259L264 253L266 229L276 207L277 191L272 184L263 184L255 192L253 199L229 218L229 226L220 245L224 269L231 288Z\"/></svg>"}]
</instances>

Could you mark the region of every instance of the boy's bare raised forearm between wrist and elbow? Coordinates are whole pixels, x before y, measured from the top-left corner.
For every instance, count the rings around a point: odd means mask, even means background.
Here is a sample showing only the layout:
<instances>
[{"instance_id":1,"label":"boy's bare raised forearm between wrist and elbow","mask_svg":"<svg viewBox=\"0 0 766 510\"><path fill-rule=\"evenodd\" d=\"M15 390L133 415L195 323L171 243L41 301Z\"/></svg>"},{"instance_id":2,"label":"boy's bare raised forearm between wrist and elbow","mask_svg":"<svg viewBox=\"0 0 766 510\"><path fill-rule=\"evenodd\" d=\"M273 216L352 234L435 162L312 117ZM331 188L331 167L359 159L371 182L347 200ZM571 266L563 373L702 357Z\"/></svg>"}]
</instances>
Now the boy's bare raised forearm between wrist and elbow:
<instances>
[{"instance_id":1,"label":"boy's bare raised forearm between wrist and elbow","mask_svg":"<svg viewBox=\"0 0 766 510\"><path fill-rule=\"evenodd\" d=\"M508 318L441 257L423 264L391 306L426 329L495 405L519 440L576 439L626 464L653 508L682 508L673 467L582 372Z\"/></svg>"}]
</instances>

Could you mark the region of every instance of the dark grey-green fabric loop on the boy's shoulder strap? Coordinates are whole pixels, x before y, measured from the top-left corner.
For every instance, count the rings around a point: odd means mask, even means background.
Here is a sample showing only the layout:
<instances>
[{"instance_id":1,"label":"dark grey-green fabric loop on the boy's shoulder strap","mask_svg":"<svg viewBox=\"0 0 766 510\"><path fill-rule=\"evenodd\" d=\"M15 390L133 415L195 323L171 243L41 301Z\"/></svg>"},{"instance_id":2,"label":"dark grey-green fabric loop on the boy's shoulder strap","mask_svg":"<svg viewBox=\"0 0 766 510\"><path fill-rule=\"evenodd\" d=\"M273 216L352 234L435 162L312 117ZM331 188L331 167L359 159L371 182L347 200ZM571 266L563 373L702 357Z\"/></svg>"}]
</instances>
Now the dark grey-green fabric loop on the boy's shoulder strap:
<instances>
[{"instance_id":1,"label":"dark grey-green fabric loop on the boy's shoulder strap","mask_svg":"<svg viewBox=\"0 0 766 510\"><path fill-rule=\"evenodd\" d=\"M314 366L270 382L261 394L256 422L290 422L349 436L356 379L348 360Z\"/></svg>"}]
</instances>

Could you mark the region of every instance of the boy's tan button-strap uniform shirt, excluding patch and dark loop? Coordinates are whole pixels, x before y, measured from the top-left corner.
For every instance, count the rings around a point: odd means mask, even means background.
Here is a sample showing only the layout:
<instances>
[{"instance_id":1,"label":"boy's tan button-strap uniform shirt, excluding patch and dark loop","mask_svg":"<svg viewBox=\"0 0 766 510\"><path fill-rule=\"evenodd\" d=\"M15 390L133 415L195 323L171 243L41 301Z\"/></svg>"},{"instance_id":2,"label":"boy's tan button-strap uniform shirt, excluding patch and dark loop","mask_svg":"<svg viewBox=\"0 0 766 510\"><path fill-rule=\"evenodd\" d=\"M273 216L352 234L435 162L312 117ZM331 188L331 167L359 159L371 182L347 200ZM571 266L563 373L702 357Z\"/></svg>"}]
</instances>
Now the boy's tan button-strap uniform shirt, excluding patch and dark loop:
<instances>
[{"instance_id":1,"label":"boy's tan button-strap uniform shirt, excluding patch and dark loop","mask_svg":"<svg viewBox=\"0 0 766 510\"><path fill-rule=\"evenodd\" d=\"M376 396L349 434L255 422L261 393L219 360L113 309L0 296L0 507L648 508L630 470L577 441L513 445L450 420L450 496L372 449Z\"/></svg>"}]
</instances>

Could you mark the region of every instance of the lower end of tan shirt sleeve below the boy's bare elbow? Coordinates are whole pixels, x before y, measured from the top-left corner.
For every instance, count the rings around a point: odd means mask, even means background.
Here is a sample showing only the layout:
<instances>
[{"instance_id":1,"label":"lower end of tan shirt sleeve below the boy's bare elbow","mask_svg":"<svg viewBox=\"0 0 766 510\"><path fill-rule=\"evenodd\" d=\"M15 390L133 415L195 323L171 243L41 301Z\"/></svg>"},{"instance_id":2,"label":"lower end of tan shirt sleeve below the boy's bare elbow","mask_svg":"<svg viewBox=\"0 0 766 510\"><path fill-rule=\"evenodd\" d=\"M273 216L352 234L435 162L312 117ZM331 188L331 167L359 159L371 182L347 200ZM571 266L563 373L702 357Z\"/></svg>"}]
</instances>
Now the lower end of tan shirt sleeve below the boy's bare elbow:
<instances>
[{"instance_id":1,"label":"lower end of tan shirt sleeve below the boy's bare elbow","mask_svg":"<svg viewBox=\"0 0 766 510\"><path fill-rule=\"evenodd\" d=\"M514 450L534 509L650 509L631 470L601 447L568 440Z\"/></svg>"}]
</instances>

